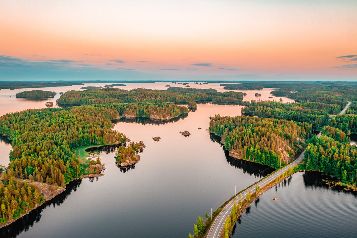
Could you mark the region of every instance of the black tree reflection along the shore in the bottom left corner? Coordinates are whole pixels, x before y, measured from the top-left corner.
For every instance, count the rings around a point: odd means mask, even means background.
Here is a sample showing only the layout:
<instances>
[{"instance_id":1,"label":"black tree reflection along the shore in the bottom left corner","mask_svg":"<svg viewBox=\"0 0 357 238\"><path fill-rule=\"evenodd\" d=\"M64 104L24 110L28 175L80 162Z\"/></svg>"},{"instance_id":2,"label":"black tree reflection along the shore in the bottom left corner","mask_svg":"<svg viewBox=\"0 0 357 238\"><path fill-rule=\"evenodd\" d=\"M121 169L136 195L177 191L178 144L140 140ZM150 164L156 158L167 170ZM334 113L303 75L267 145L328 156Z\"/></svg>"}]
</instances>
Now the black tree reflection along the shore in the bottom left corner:
<instances>
[{"instance_id":1,"label":"black tree reflection along the shore in the bottom left corner","mask_svg":"<svg viewBox=\"0 0 357 238\"><path fill-rule=\"evenodd\" d=\"M26 214L25 216L17 219L15 222L11 223L9 226L6 226L4 228L0 229L0 237L1 238L13 238L18 236L22 232L26 232L34 225L34 223L37 223L41 219L41 212L44 210L46 207L56 207L60 206L67 198L69 194L72 193L72 191L77 191L77 188L81 184L81 180L77 181L72 181L70 182L66 190L51 199L50 201L45 202L38 208L34 209L31 211L29 214ZM70 214L69 214L70 215ZM64 228L65 229L65 228Z\"/></svg>"}]
</instances>

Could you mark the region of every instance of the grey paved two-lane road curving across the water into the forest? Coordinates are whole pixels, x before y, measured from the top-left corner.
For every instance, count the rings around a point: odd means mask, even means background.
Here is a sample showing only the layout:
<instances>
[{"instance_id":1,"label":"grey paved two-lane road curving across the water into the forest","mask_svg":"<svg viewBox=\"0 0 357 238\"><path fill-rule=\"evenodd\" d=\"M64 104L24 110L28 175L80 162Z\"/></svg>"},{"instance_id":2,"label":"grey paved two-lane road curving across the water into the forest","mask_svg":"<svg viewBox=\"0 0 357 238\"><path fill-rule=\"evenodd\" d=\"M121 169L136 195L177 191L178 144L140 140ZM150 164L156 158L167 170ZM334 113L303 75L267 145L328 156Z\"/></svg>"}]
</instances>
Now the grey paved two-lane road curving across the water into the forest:
<instances>
[{"instance_id":1,"label":"grey paved two-lane road curving across the water into the forest","mask_svg":"<svg viewBox=\"0 0 357 238\"><path fill-rule=\"evenodd\" d=\"M347 110L347 108L351 105L351 102L348 102L346 107L343 108L343 110L340 112L340 115L345 113L345 111ZM318 133L317 137L321 136L321 132ZM219 238L221 231L223 229L224 226L224 222L226 221L227 217L230 215L232 207L233 207L233 203L234 200L238 201L240 197L242 197L242 199L245 199L246 195L249 193L249 191L254 192L256 186L259 187L264 187L266 184L268 184L269 182L273 181L276 177L281 176L283 173L285 173L285 170L288 170L289 167L294 167L295 165L297 165L298 163L300 163L302 161L302 159L304 158L304 153L305 150L301 153L301 155L299 157L297 157L297 159L295 159L293 162L291 162L290 164L288 164L287 166L279 169L278 171L276 171L275 173L271 174L269 177L266 177L265 179L263 179L262 181L260 181L259 183L253 185L252 187L244 190L241 193L238 193L238 195L235 197L235 199L232 199L231 202L229 202L223 209L222 211L218 214L218 216L215 218L215 220L213 221L213 224L210 228L210 230L208 231L208 235L207 238Z\"/></svg>"}]
</instances>

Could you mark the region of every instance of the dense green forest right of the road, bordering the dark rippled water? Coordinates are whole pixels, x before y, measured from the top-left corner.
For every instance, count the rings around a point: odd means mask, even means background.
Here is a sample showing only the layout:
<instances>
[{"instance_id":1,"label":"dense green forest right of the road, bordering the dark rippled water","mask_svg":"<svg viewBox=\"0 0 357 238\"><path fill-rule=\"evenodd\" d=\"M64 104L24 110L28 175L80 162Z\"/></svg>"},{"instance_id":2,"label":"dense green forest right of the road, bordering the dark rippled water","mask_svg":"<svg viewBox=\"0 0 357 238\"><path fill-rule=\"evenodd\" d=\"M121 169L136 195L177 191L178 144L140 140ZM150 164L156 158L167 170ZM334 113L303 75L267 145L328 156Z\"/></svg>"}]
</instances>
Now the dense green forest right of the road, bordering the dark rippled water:
<instances>
[{"instance_id":1,"label":"dense green forest right of the road, bordering the dark rippled water","mask_svg":"<svg viewBox=\"0 0 357 238\"><path fill-rule=\"evenodd\" d=\"M327 128L326 128L327 129ZM335 136L332 133L335 133ZM314 136L305 152L306 169L327 172L336 176L342 182L356 185L357 181L357 150L351 146L341 130L323 130L323 135ZM333 136L336 138L329 137Z\"/></svg>"}]
</instances>

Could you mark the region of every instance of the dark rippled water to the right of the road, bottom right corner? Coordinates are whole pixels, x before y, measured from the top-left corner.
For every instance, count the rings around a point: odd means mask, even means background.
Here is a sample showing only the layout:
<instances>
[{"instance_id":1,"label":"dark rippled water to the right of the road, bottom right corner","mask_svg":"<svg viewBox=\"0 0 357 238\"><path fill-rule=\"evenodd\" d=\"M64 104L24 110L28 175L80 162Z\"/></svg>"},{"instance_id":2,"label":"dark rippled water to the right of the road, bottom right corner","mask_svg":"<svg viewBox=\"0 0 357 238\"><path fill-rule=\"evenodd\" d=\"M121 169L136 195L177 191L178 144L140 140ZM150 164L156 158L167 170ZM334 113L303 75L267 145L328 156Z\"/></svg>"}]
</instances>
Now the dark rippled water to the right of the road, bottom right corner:
<instances>
[{"instance_id":1,"label":"dark rippled water to the right of the road, bottom right corner","mask_svg":"<svg viewBox=\"0 0 357 238\"><path fill-rule=\"evenodd\" d=\"M357 193L330 188L323 179L313 171L285 179L251 204L231 237L356 237Z\"/></svg>"}]
</instances>

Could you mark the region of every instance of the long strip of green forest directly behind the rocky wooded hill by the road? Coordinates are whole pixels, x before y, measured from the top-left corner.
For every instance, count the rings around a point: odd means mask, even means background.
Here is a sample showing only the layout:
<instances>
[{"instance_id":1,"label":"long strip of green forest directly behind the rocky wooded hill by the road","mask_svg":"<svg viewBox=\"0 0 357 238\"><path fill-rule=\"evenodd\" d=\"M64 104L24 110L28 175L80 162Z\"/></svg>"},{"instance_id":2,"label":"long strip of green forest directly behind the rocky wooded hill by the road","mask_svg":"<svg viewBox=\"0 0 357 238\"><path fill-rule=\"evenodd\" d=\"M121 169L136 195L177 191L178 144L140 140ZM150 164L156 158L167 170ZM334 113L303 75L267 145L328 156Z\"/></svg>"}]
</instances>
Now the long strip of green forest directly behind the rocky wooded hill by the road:
<instances>
[{"instance_id":1,"label":"long strip of green forest directly behind the rocky wooded hill by the road","mask_svg":"<svg viewBox=\"0 0 357 238\"><path fill-rule=\"evenodd\" d=\"M243 109L245 115L307 122L312 125L313 130L320 130L320 127L327 123L328 113L337 114L340 111L338 105L316 102L281 103L251 101L244 104L246 105Z\"/></svg>"}]
</instances>

